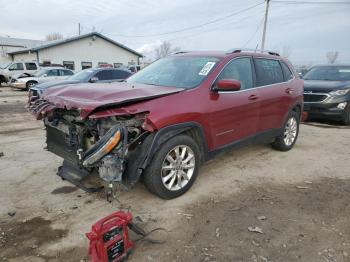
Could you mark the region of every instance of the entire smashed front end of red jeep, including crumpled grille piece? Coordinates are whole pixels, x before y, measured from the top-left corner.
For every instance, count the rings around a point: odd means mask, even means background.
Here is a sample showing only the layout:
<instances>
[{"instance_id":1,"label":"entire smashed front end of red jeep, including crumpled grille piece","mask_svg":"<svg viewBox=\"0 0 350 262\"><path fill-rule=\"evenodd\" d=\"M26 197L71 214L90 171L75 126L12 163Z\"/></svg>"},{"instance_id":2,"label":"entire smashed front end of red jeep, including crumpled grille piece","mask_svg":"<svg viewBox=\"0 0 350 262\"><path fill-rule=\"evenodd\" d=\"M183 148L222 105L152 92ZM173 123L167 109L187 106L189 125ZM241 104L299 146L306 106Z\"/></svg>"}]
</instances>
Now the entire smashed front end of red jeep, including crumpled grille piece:
<instances>
[{"instance_id":1,"label":"entire smashed front end of red jeep, including crumpled grille piece","mask_svg":"<svg viewBox=\"0 0 350 262\"><path fill-rule=\"evenodd\" d=\"M152 137L142 128L146 112L82 119L79 110L42 99L32 102L29 111L44 121L47 150L64 159L57 173L62 179L88 192L100 190L103 182L109 199L115 184L129 187L138 181Z\"/></svg>"}]
</instances>

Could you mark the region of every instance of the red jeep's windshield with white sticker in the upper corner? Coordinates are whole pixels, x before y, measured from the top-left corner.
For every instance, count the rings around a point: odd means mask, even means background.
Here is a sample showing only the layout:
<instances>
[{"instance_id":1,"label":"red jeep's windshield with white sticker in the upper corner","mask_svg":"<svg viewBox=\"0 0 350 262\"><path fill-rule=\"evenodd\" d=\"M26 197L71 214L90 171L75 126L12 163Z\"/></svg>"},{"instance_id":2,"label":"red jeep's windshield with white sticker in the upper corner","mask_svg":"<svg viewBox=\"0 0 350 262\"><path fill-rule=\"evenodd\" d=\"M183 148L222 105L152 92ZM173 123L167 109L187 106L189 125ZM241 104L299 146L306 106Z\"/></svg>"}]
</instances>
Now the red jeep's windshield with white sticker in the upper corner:
<instances>
[{"instance_id":1,"label":"red jeep's windshield with white sticker in the upper corner","mask_svg":"<svg viewBox=\"0 0 350 262\"><path fill-rule=\"evenodd\" d=\"M216 66L216 57L170 56L142 69L126 81L179 88L198 86Z\"/></svg>"}]
</instances>

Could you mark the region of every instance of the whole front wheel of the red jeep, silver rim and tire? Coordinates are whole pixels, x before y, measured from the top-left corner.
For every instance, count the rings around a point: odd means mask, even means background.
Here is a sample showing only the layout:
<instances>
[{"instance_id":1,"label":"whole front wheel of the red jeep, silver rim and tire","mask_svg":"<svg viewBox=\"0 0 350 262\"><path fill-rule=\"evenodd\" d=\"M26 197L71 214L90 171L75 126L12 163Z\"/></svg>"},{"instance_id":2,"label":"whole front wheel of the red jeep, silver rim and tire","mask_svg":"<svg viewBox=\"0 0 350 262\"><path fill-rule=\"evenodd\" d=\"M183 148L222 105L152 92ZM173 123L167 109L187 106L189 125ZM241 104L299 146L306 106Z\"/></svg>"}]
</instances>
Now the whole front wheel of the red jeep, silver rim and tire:
<instances>
[{"instance_id":1,"label":"whole front wheel of the red jeep, silver rim and tire","mask_svg":"<svg viewBox=\"0 0 350 262\"><path fill-rule=\"evenodd\" d=\"M164 199L181 196L194 183L200 159L199 147L191 137L175 136L153 157L144 174L145 186Z\"/></svg>"}]
</instances>

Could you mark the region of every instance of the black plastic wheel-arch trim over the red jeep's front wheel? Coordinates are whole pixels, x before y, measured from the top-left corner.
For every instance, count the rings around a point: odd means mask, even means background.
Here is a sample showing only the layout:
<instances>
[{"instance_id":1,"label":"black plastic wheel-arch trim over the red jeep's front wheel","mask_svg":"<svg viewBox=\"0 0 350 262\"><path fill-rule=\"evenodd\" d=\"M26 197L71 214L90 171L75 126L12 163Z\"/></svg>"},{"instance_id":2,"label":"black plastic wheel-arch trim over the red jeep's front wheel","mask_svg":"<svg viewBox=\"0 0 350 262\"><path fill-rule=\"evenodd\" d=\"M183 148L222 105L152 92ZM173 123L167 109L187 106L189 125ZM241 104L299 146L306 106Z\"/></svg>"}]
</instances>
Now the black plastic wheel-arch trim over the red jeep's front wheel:
<instances>
[{"instance_id":1,"label":"black plastic wheel-arch trim over the red jeep's front wheel","mask_svg":"<svg viewBox=\"0 0 350 262\"><path fill-rule=\"evenodd\" d=\"M170 125L160 129L156 133L149 134L143 141L139 150L135 150L135 152L130 154L128 157L128 162L132 163L132 165L128 165L126 169L125 181L127 184L132 186L139 180L143 170L145 170L150 164L153 156L163 143L168 141L170 138L193 128L198 131L200 140L199 146L202 149L201 151L204 153L202 157L204 160L206 160L208 155L207 142L205 139L204 129L198 122L185 122Z\"/></svg>"}]
</instances>

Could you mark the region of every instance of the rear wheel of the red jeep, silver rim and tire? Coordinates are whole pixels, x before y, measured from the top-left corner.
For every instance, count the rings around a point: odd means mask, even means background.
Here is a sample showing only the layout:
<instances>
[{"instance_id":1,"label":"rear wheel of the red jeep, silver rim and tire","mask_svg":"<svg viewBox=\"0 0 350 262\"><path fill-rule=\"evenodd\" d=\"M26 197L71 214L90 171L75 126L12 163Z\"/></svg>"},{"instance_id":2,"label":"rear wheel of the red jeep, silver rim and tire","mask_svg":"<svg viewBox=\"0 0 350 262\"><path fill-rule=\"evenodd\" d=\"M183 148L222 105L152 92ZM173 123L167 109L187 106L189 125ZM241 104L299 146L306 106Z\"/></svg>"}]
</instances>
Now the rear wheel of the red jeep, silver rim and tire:
<instances>
[{"instance_id":1,"label":"rear wheel of the red jeep, silver rim and tire","mask_svg":"<svg viewBox=\"0 0 350 262\"><path fill-rule=\"evenodd\" d=\"M300 117L295 112L289 113L287 121L283 126L283 131L276 137L272 147L280 151L288 151L293 148L299 134Z\"/></svg>"}]
</instances>

